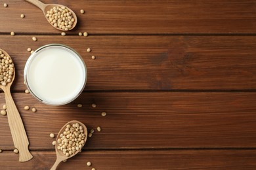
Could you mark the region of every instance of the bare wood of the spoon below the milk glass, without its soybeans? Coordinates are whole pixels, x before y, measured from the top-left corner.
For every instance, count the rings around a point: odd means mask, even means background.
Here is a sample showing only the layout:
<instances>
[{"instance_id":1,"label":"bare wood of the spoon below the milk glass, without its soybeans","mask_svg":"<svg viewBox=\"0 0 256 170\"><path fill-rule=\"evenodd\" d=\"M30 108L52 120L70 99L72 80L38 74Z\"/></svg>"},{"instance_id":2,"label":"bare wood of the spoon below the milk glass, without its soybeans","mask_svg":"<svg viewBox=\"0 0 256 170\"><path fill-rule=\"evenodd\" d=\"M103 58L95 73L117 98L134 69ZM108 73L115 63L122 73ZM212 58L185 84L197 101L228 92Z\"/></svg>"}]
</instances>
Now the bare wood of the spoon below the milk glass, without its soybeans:
<instances>
[{"instance_id":1,"label":"bare wood of the spoon below the milk glass, without its soybeans","mask_svg":"<svg viewBox=\"0 0 256 170\"><path fill-rule=\"evenodd\" d=\"M70 155L69 157L66 156L66 155L64 155L63 152L62 152L62 150L58 150L58 148L57 148L57 147L58 147L58 142L57 142L57 141L58 141L58 139L60 138L60 134L65 131L66 126L67 126L68 124L70 124L70 125L72 126L72 124L76 124L76 123L78 123L78 124L80 124L81 126L83 126L83 134L85 135L85 139L84 139L84 140L85 140L85 142L86 142L86 140L87 140L87 127L86 127L83 123L78 122L77 120L72 120L72 121L66 123L66 124L60 129L60 131L58 132L58 136L56 137L55 151L56 151L56 156L57 156L57 158L56 158L56 161L55 161L53 167L51 167L51 170L55 170L55 169L58 167L58 164L59 164L61 161L68 160L69 158L72 158L73 156L75 156L75 155L83 148L83 147L81 147L80 150L77 150L74 154ZM84 144L85 144L85 143L84 143ZM84 146L84 144L83 144L83 146Z\"/></svg>"}]
</instances>

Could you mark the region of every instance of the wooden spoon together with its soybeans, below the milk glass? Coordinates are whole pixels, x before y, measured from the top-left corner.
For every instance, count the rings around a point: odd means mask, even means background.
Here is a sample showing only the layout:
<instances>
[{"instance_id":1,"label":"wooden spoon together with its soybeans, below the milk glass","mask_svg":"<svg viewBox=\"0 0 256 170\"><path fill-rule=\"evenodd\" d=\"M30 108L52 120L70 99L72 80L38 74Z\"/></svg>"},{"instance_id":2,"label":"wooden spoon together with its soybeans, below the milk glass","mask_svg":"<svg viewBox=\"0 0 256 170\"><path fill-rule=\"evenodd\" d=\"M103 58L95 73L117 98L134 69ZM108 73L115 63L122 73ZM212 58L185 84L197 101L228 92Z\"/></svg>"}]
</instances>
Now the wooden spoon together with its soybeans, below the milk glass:
<instances>
[{"instance_id":1,"label":"wooden spoon together with its soybeans, below the milk glass","mask_svg":"<svg viewBox=\"0 0 256 170\"><path fill-rule=\"evenodd\" d=\"M87 127L77 120L72 120L65 124L56 137L56 161L51 167L54 170L61 161L75 156L85 145L87 140Z\"/></svg>"}]
</instances>

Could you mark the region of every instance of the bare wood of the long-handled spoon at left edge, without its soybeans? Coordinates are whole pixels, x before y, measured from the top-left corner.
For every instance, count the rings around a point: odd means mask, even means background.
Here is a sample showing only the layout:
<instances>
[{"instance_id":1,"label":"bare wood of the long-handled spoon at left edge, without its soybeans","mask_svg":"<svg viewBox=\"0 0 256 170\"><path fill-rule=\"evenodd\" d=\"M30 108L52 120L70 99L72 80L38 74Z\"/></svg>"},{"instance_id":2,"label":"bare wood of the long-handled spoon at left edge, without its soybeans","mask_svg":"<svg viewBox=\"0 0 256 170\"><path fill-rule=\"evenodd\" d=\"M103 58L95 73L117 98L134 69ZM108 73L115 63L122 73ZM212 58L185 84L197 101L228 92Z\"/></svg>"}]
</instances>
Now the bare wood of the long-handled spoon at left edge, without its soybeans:
<instances>
[{"instance_id":1,"label":"bare wood of the long-handled spoon at left edge, without its soybeans","mask_svg":"<svg viewBox=\"0 0 256 170\"><path fill-rule=\"evenodd\" d=\"M9 54L5 52L4 50L0 49L3 54L9 58ZM13 67L14 69L14 67ZM11 85L15 78L15 69L14 73L12 75L11 82L8 82L6 86L3 86L0 84L0 88L3 89L3 92L5 92L5 101L7 105L7 117L9 126L11 129L12 134L12 140L14 143L14 146L19 150L20 158L19 161L28 161L33 158L32 154L30 154L30 150L28 150L28 145L30 144L28 142L28 137L22 122L22 119L20 118L20 113L18 112L18 109L16 108L16 105L12 99L11 95Z\"/></svg>"}]
</instances>

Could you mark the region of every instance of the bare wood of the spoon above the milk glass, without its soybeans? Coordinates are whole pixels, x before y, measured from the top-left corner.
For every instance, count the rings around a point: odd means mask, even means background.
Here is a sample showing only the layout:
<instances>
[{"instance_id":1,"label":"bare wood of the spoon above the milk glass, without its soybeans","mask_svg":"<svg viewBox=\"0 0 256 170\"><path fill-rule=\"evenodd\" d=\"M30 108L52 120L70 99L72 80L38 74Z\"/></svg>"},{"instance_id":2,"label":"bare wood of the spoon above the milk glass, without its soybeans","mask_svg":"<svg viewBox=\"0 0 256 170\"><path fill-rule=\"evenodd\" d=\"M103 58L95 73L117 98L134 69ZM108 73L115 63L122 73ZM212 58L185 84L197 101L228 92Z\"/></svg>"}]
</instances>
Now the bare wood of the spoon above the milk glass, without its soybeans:
<instances>
[{"instance_id":1,"label":"bare wood of the spoon above the milk glass, without its soybeans","mask_svg":"<svg viewBox=\"0 0 256 170\"><path fill-rule=\"evenodd\" d=\"M26 0L26 1L32 3L33 5L37 6L39 9L43 10L43 14L45 15L45 18L47 19L47 21L48 21L50 24L51 24L51 22L48 20L48 18L47 18L47 16L46 16L47 11L53 9L53 7L66 7L66 6L64 6L64 5L58 5L58 4L44 4L44 3L42 3L42 2L39 1L39 0ZM73 28L75 27L75 25L77 24L77 16L75 15L75 12L74 12L73 10L69 9L68 7L66 7L66 9L70 10L70 12L72 13L73 18L74 18L74 20L75 20L75 21L73 22L72 27L69 29L69 30L71 30L71 29L73 29ZM53 24L51 24L51 25L54 27ZM61 29L60 27L55 27L55 28L56 28L56 29L59 29L59 30L61 30L61 31L65 31L64 29Z\"/></svg>"}]
</instances>

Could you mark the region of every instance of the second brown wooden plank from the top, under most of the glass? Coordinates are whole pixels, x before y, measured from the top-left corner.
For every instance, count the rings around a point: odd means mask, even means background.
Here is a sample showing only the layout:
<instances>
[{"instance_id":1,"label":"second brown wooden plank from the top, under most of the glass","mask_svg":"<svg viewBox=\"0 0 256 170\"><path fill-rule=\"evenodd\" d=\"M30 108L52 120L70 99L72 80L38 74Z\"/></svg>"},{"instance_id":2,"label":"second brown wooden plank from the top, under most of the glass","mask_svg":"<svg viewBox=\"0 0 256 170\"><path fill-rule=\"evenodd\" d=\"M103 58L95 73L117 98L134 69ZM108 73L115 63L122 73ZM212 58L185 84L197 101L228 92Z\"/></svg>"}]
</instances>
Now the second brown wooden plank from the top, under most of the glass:
<instances>
[{"instance_id":1,"label":"second brown wooden plank from the top, under most of the glass","mask_svg":"<svg viewBox=\"0 0 256 170\"><path fill-rule=\"evenodd\" d=\"M16 64L12 90L25 90L23 70L33 50L71 46L85 60L85 90L255 90L256 40L247 36L37 36L1 35ZM53 41L54 39L54 41ZM8 43L6 43L8 42ZM91 48L92 52L86 52ZM96 59L91 59L91 56Z\"/></svg>"}]
</instances>

